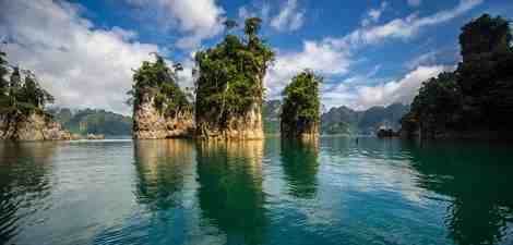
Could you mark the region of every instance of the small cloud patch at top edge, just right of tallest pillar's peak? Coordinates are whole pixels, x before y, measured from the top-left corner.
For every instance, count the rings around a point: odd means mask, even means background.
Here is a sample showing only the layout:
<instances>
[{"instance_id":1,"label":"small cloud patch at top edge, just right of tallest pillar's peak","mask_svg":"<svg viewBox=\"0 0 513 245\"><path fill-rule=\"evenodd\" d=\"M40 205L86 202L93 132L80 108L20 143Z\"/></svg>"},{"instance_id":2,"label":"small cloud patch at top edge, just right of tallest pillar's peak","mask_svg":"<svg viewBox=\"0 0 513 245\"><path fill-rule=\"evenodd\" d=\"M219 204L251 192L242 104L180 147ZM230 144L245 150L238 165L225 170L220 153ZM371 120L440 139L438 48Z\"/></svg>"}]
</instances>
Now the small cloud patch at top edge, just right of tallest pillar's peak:
<instances>
[{"instance_id":1,"label":"small cloud patch at top edge, just right of tallest pillar's peak","mask_svg":"<svg viewBox=\"0 0 513 245\"><path fill-rule=\"evenodd\" d=\"M297 0L287 0L279 13L271 20L277 30L296 30L303 24L305 10L299 10Z\"/></svg>"}]
</instances>

